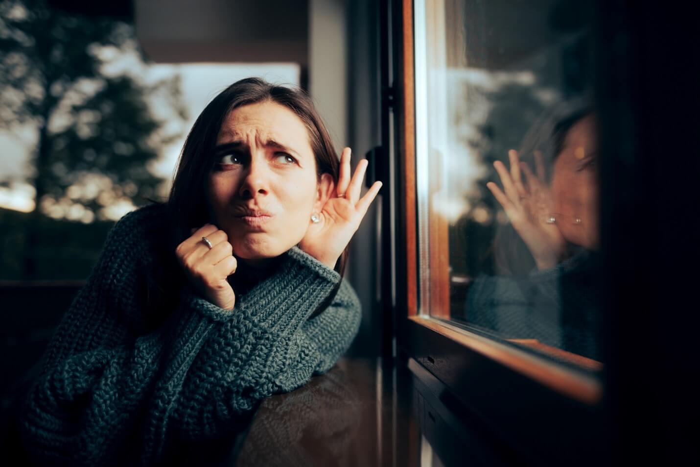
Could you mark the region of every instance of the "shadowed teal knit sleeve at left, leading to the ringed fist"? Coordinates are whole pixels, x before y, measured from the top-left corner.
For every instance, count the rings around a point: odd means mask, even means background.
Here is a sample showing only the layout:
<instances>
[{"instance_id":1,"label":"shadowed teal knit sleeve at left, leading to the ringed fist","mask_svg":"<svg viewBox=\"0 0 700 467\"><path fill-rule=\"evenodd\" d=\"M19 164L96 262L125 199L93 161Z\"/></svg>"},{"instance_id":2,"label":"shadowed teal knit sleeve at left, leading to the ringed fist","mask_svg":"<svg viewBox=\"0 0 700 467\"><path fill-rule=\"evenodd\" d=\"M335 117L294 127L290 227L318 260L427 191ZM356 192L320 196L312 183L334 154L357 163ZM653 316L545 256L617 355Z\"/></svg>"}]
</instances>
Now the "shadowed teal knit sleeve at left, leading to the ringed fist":
<instances>
[{"instance_id":1,"label":"shadowed teal knit sleeve at left, leading to the ringed fist","mask_svg":"<svg viewBox=\"0 0 700 467\"><path fill-rule=\"evenodd\" d=\"M115 459L125 438L153 419L144 407L156 382L177 385L218 323L212 313L181 307L156 330L144 325L141 270L149 243L143 233L158 222L157 208L116 224L50 341L20 421L37 465L97 466Z\"/></svg>"}]
</instances>

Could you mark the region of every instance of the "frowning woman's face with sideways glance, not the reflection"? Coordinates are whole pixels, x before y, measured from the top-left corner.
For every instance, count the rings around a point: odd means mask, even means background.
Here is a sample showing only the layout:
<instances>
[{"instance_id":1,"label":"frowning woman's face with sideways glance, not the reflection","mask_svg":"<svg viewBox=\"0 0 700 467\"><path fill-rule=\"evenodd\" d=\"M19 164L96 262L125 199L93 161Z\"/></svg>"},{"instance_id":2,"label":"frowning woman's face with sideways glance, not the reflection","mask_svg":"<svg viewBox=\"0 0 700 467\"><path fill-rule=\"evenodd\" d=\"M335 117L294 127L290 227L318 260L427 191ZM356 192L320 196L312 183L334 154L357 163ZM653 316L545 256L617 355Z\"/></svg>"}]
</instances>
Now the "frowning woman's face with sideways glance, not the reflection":
<instances>
[{"instance_id":1,"label":"frowning woman's face with sideways glance, not the reflection","mask_svg":"<svg viewBox=\"0 0 700 467\"><path fill-rule=\"evenodd\" d=\"M322 201L302 120L276 102L238 107L223 122L214 150L209 212L234 255L267 259L299 243Z\"/></svg>"}]
</instances>

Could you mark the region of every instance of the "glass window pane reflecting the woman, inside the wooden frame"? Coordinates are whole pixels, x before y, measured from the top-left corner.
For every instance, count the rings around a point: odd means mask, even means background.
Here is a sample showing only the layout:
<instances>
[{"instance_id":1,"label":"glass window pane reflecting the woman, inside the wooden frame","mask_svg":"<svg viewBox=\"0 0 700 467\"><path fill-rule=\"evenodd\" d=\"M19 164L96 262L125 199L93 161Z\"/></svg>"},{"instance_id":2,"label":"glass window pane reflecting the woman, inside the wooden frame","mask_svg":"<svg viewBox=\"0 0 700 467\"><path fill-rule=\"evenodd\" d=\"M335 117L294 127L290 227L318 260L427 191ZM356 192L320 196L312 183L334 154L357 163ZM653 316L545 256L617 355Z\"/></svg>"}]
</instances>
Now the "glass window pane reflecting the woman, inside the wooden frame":
<instances>
[{"instance_id":1,"label":"glass window pane reflecting the woman, inside the wooden frame","mask_svg":"<svg viewBox=\"0 0 700 467\"><path fill-rule=\"evenodd\" d=\"M421 313L600 367L583 1L416 1Z\"/></svg>"}]
</instances>

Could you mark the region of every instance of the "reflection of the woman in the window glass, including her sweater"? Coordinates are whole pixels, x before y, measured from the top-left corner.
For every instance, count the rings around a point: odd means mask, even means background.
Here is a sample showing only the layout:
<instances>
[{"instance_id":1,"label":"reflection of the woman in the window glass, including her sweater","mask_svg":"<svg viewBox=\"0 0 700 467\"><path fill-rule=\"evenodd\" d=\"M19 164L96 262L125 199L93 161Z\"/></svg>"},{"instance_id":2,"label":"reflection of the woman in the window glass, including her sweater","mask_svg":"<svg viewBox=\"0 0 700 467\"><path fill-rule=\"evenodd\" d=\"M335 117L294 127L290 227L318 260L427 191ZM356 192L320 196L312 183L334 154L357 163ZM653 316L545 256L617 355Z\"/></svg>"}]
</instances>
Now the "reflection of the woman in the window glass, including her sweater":
<instances>
[{"instance_id":1,"label":"reflection of the woman in the window glass, including her sweater","mask_svg":"<svg viewBox=\"0 0 700 467\"><path fill-rule=\"evenodd\" d=\"M493 182L487 187L518 238L498 234L498 269L510 275L477 278L465 312L470 323L503 337L538 339L598 358L594 114L579 109L547 128L552 129L541 145L544 151L532 151L535 172L519 160L517 151L509 153L510 170L494 163L503 189ZM553 161L549 182L543 152Z\"/></svg>"}]
</instances>

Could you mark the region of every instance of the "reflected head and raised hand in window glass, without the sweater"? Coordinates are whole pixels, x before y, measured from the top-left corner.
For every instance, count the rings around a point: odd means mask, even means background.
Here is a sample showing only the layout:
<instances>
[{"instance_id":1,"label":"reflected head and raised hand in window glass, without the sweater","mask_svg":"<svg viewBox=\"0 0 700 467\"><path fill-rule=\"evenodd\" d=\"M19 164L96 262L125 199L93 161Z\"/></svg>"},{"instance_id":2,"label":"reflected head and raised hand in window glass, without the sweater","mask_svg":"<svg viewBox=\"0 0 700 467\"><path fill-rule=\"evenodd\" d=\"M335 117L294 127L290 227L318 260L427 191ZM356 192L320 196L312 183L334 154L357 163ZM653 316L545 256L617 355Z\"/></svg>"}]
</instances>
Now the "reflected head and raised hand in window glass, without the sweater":
<instances>
[{"instance_id":1,"label":"reflected head and raised hand in window glass, without the sweater","mask_svg":"<svg viewBox=\"0 0 700 467\"><path fill-rule=\"evenodd\" d=\"M493 163L503 190L493 182L486 184L528 246L538 269L550 268L564 259L567 244L580 245L587 250L596 250L598 246L596 140L592 114L580 111L559 121L552 139L554 165L549 187L545 182L541 151L534 152L537 175L519 161L517 151L510 151L510 172L502 162Z\"/></svg>"}]
</instances>

